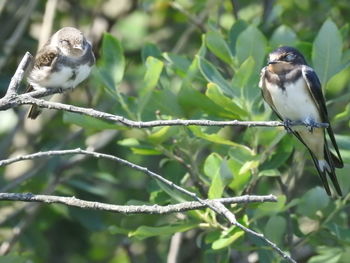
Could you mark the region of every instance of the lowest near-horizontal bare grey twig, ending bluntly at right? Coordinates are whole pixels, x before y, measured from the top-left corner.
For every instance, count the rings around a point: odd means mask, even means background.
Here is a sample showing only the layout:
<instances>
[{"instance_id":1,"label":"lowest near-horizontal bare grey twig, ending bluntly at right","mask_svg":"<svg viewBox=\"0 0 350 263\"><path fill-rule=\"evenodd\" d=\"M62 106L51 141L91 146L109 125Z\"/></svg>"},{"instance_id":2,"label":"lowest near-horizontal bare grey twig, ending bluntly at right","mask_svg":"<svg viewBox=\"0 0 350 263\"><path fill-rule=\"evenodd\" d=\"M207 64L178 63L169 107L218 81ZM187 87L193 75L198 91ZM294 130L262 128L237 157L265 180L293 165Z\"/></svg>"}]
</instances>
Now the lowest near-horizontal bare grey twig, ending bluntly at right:
<instances>
[{"instance_id":1,"label":"lowest near-horizontal bare grey twig, ending bluntly at right","mask_svg":"<svg viewBox=\"0 0 350 263\"><path fill-rule=\"evenodd\" d=\"M40 202L47 204L64 204L68 206L79 207L83 209L103 210L121 214L169 214L179 213L188 210L196 210L206 208L206 205L200 202L183 202L174 205L113 205L101 202L92 202L73 197L63 197L54 195L34 195L31 193L0 193L2 201L23 201L23 202ZM205 200L208 203L220 202L223 204L237 203L263 203L277 202L277 198L273 195L257 196L244 195L238 197L219 198L214 200Z\"/></svg>"}]
</instances>

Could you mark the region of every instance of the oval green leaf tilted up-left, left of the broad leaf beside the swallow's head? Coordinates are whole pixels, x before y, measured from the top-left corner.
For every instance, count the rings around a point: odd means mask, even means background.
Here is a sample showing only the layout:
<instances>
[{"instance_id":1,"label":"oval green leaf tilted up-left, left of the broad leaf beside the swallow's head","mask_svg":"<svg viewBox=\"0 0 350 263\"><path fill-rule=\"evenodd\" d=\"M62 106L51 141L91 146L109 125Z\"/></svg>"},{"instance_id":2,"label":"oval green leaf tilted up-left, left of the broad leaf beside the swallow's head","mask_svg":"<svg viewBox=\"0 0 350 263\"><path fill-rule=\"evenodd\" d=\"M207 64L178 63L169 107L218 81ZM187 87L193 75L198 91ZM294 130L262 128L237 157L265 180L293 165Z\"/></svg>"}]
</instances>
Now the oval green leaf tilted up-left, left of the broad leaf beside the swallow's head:
<instances>
[{"instance_id":1,"label":"oval green leaf tilted up-left, left of the broad leaf beside the swallow's head","mask_svg":"<svg viewBox=\"0 0 350 263\"><path fill-rule=\"evenodd\" d=\"M232 64L230 49L220 33L215 31L208 32L205 35L205 42L208 49L213 52L215 56L229 65Z\"/></svg>"}]
</instances>

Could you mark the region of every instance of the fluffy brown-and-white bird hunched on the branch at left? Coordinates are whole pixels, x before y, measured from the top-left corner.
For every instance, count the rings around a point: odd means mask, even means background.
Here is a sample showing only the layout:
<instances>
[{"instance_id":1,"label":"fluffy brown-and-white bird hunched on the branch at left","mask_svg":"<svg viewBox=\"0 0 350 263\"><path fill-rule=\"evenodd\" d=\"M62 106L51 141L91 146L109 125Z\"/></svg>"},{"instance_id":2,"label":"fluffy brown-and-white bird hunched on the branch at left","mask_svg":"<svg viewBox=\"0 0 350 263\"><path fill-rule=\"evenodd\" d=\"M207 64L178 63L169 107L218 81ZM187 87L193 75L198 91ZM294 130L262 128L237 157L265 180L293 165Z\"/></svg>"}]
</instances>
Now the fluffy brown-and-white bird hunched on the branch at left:
<instances>
[{"instance_id":1,"label":"fluffy brown-and-white bird hunched on the branch at left","mask_svg":"<svg viewBox=\"0 0 350 263\"><path fill-rule=\"evenodd\" d=\"M83 33L74 27L63 27L54 33L35 56L28 74L27 92L56 88L73 89L85 80L95 64L92 45ZM41 113L32 105L28 118L36 119Z\"/></svg>"}]
</instances>

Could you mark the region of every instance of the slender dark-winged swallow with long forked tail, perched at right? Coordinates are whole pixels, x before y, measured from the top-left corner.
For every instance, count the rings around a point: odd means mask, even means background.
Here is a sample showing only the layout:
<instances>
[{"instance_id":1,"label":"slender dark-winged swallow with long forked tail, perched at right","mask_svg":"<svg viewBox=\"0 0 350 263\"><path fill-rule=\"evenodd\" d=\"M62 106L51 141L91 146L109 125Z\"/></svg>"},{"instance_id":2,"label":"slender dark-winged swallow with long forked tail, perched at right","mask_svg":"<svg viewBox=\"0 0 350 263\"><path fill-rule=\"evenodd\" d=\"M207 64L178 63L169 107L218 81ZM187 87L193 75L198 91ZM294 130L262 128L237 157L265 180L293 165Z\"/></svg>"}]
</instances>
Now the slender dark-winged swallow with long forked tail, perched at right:
<instances>
[{"instance_id":1,"label":"slender dark-winged swallow with long forked tail, perched at right","mask_svg":"<svg viewBox=\"0 0 350 263\"><path fill-rule=\"evenodd\" d=\"M295 48L282 46L268 55L268 63L261 70L259 87L264 100L284 122L287 132L308 149L325 191L331 196L327 176L339 196L335 168L344 166L329 122L320 80L313 68L307 65L304 56ZM302 122L305 126L290 126ZM315 128L316 123L328 127ZM331 152L326 134L336 154Z\"/></svg>"}]
</instances>

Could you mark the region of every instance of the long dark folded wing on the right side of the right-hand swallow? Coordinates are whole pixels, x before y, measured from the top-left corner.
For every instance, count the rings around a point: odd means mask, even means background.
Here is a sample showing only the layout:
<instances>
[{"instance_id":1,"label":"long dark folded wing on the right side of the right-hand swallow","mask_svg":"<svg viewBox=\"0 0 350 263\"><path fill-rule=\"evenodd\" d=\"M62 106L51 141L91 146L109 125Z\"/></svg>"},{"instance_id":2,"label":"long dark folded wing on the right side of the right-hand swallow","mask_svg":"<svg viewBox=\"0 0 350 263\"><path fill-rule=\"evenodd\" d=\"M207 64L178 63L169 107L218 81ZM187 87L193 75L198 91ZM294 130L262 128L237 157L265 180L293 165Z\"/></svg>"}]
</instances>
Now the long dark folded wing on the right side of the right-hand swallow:
<instances>
[{"instance_id":1,"label":"long dark folded wing on the right side of the right-hand swallow","mask_svg":"<svg viewBox=\"0 0 350 263\"><path fill-rule=\"evenodd\" d=\"M330 122L329 122L328 112L327 112L327 108L326 108L326 102L325 102L324 97L323 97L320 80L318 79L316 72L308 66L302 67L302 74L303 74L303 78L304 78L304 80L309 88L310 94L312 95L312 97L315 101L315 104L318 106L318 110L320 112L322 121L329 124L329 126L327 128L327 132L328 132L329 138L331 139L333 147L334 147L335 151L337 152L337 156L335 156L327 148L329 153L325 152L325 154L331 156L335 167L342 168L344 166L344 164L343 164L343 160L341 158L341 155L340 155L340 152L338 149L337 142L335 141L332 127L331 127Z\"/></svg>"}]
</instances>

